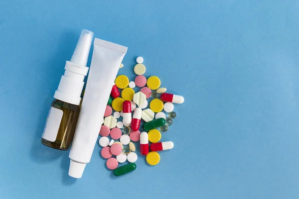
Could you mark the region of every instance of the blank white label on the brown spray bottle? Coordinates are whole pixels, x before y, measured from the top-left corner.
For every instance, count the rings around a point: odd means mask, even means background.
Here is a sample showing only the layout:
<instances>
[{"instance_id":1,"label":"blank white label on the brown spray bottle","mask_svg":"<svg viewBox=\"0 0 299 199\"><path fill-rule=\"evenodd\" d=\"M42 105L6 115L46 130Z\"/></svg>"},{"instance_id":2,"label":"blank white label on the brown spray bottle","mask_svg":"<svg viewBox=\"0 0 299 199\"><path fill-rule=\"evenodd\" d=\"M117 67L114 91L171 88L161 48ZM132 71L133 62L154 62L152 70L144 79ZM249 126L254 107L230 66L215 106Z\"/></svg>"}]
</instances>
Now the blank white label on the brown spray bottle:
<instances>
[{"instance_id":1,"label":"blank white label on the brown spray bottle","mask_svg":"<svg viewBox=\"0 0 299 199\"><path fill-rule=\"evenodd\" d=\"M45 130L42 134L42 138L54 142L56 140L63 110L51 107L49 115L46 121Z\"/></svg>"}]
</instances>

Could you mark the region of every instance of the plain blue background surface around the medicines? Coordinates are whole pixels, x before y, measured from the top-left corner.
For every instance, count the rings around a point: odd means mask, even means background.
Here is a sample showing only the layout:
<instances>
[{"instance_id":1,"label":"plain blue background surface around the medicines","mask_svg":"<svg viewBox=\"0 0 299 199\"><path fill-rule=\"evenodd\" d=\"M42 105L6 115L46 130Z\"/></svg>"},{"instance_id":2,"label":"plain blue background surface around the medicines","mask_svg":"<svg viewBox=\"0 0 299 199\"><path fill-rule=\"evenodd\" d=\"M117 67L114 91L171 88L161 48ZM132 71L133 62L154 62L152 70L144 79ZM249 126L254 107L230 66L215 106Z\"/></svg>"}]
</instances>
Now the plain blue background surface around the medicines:
<instances>
[{"instance_id":1,"label":"plain blue background surface around the medicines","mask_svg":"<svg viewBox=\"0 0 299 199\"><path fill-rule=\"evenodd\" d=\"M1 0L0 198L299 198L298 10L297 0ZM97 144L75 180L68 151L40 143L82 29L128 47L120 73L132 79L142 55L147 77L185 97L158 165L139 155L116 179Z\"/></svg>"}]
</instances>

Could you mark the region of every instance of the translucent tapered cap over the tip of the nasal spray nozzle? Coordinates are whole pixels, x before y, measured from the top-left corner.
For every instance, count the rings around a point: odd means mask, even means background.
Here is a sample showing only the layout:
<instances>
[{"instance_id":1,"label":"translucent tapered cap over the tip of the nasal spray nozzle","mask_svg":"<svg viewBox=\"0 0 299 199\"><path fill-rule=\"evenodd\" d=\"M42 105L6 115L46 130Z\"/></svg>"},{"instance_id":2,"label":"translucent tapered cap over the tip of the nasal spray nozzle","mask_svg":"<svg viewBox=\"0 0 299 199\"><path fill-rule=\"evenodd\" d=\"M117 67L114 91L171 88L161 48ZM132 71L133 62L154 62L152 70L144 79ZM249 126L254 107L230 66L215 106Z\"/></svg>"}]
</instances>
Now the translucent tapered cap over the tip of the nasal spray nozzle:
<instances>
[{"instance_id":1,"label":"translucent tapered cap over the tip of the nasal spray nozzle","mask_svg":"<svg viewBox=\"0 0 299 199\"><path fill-rule=\"evenodd\" d=\"M76 49L71 58L71 62L78 66L86 66L92 38L92 31L82 30Z\"/></svg>"}]
</instances>

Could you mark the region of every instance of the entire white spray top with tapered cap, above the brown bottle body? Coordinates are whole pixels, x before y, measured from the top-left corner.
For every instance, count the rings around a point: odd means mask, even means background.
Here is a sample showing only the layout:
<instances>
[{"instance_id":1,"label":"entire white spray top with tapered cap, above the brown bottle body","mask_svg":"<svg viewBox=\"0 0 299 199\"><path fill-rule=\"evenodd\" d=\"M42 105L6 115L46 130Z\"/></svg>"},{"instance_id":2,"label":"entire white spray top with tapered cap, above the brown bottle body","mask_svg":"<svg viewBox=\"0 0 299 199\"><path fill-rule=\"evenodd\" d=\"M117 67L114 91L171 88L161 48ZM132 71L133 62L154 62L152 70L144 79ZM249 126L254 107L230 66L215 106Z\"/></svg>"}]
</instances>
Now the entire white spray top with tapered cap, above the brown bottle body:
<instances>
[{"instance_id":1,"label":"entire white spray top with tapered cap, above the brown bottle body","mask_svg":"<svg viewBox=\"0 0 299 199\"><path fill-rule=\"evenodd\" d=\"M65 72L61 77L58 89L54 94L57 100L79 105L84 86L84 77L87 75L89 50L93 39L93 32L82 30L71 61L66 61Z\"/></svg>"}]
</instances>

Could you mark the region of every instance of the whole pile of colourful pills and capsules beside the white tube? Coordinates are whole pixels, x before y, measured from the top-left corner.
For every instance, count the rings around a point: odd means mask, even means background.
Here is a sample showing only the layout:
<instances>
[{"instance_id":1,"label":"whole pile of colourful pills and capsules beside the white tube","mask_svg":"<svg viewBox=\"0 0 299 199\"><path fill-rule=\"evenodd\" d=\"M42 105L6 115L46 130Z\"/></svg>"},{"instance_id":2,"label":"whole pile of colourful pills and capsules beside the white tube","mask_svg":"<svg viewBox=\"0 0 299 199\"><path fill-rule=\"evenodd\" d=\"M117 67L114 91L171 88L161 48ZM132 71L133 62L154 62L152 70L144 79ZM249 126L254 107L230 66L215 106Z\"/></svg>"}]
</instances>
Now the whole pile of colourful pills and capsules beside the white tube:
<instances>
[{"instance_id":1,"label":"whole pile of colourful pills and capsules beside the white tube","mask_svg":"<svg viewBox=\"0 0 299 199\"><path fill-rule=\"evenodd\" d=\"M151 76L147 79L143 76L146 67L142 57L138 57L136 61L134 72L137 77L134 81L129 81L125 75L116 77L99 133L99 144L103 147L101 156L108 159L106 165L113 170L115 176L136 169L137 142L140 142L140 152L146 155L149 165L159 163L160 156L157 151L173 148L171 141L159 142L160 131L166 132L172 119L176 117L173 103L184 102L182 96L165 93L166 88L160 88L158 77ZM121 64L120 68L123 67ZM138 92L135 92L136 87L140 88ZM167 117L164 112L168 114ZM144 123L143 126L141 123ZM126 161L130 163L118 167L119 163Z\"/></svg>"}]
</instances>

